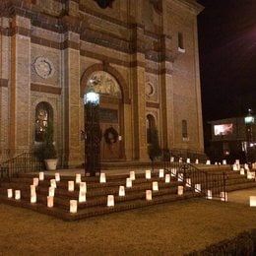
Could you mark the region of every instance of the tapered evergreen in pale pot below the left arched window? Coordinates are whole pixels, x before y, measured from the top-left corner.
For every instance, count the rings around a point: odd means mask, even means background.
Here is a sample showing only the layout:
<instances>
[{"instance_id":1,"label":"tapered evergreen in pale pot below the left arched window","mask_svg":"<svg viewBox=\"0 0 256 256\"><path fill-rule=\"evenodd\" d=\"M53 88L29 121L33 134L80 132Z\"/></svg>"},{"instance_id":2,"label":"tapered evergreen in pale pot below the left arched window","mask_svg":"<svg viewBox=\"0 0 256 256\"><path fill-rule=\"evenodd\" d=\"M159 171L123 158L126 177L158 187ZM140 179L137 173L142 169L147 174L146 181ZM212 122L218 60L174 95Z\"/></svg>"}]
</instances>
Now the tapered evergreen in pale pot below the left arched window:
<instances>
[{"instance_id":1,"label":"tapered evergreen in pale pot below the left arched window","mask_svg":"<svg viewBox=\"0 0 256 256\"><path fill-rule=\"evenodd\" d=\"M35 151L39 160L43 160L48 170L54 170L57 167L57 152L53 141L53 123L48 122L45 133L43 134L42 143Z\"/></svg>"}]
</instances>

